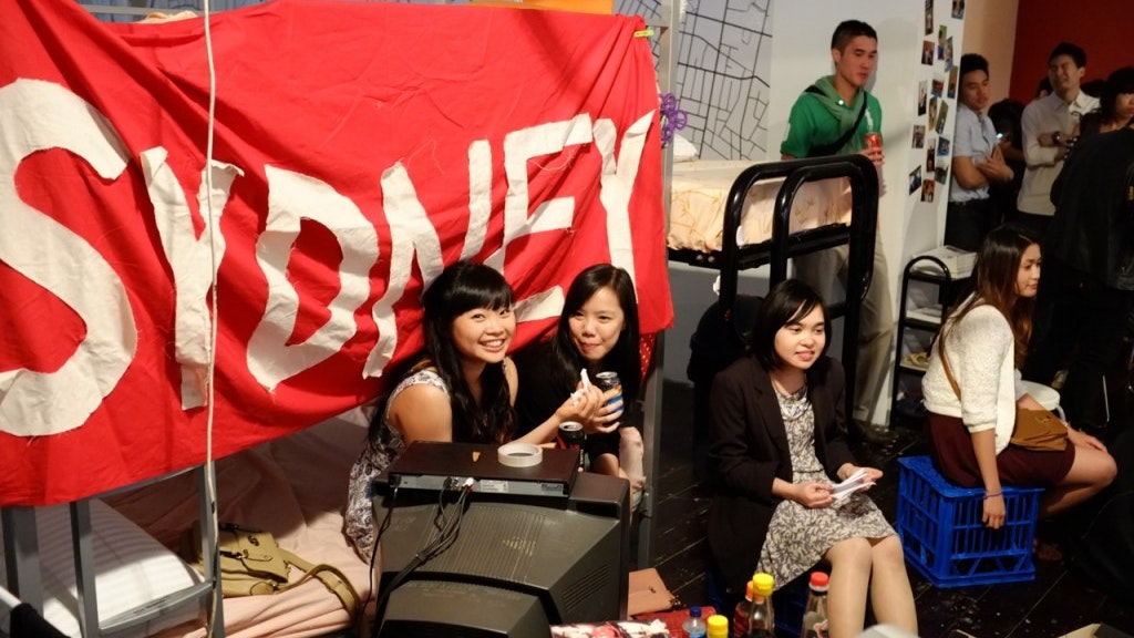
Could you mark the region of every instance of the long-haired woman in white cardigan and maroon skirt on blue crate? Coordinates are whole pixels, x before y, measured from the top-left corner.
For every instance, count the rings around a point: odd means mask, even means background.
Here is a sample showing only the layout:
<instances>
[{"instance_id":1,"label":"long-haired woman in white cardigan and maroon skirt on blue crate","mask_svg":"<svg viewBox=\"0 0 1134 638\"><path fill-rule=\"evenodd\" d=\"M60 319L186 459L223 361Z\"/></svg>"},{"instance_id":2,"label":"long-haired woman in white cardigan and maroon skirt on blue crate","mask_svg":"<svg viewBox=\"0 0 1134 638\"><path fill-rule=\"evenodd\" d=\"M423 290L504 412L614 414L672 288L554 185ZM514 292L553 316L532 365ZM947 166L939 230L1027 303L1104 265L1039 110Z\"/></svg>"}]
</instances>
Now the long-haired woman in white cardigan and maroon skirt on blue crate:
<instances>
[{"instance_id":1,"label":"long-haired woman in white cardigan and maroon skirt on blue crate","mask_svg":"<svg viewBox=\"0 0 1134 638\"><path fill-rule=\"evenodd\" d=\"M1102 443L1066 423L1061 452L1009 443L1016 408L1042 410L1017 371L1032 331L1040 263L1040 246L1016 229L990 233L976 255L975 289L946 321L922 380L933 462L959 485L984 487L982 520L993 529L1004 524L1001 484L1048 488L1040 502L1047 517L1090 498L1117 471Z\"/></svg>"}]
</instances>

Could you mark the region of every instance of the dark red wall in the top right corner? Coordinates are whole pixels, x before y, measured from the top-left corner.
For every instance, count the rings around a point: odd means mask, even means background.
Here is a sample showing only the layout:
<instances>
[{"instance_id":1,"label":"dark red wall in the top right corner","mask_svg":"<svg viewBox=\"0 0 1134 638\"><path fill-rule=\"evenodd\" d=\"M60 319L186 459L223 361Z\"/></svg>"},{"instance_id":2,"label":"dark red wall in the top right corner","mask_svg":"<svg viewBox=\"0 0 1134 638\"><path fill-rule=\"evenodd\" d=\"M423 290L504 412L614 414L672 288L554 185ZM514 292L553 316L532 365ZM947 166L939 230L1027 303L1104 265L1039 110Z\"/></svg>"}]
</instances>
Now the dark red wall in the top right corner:
<instances>
[{"instance_id":1,"label":"dark red wall in the top right corner","mask_svg":"<svg viewBox=\"0 0 1134 638\"><path fill-rule=\"evenodd\" d=\"M1086 51L1084 82L1106 78L1123 66L1134 66L1134 1L1019 0L1016 49L1012 61L1012 96L1032 100L1048 70L1048 54L1060 41Z\"/></svg>"}]
</instances>

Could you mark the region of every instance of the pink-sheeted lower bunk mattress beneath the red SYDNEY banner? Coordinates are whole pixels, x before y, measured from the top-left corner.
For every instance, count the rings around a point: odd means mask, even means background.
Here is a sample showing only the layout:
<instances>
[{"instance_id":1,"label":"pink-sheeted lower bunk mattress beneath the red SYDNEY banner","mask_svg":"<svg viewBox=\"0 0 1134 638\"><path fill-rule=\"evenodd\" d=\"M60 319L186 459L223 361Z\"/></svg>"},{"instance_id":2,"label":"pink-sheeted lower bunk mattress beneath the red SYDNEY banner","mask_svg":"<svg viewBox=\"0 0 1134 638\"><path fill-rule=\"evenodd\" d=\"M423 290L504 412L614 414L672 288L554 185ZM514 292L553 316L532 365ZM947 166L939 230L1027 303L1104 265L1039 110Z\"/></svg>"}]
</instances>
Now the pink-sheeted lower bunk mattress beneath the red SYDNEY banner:
<instances>
[{"instance_id":1,"label":"pink-sheeted lower bunk mattress beneath the red SYDNEY banner","mask_svg":"<svg viewBox=\"0 0 1134 638\"><path fill-rule=\"evenodd\" d=\"M280 546L299 557L339 568L366 599L370 568L342 535L347 475L365 436L366 420L355 410L221 459L217 462L220 520L271 531ZM192 473L116 495L108 502L171 548L179 547L181 535L197 520ZM293 580L302 576L291 571ZM373 605L373 596L370 598ZM230 638L298 638L325 635L348 623L338 597L318 579L282 594L225 599L225 632ZM200 620L159 633L204 635Z\"/></svg>"}]
</instances>

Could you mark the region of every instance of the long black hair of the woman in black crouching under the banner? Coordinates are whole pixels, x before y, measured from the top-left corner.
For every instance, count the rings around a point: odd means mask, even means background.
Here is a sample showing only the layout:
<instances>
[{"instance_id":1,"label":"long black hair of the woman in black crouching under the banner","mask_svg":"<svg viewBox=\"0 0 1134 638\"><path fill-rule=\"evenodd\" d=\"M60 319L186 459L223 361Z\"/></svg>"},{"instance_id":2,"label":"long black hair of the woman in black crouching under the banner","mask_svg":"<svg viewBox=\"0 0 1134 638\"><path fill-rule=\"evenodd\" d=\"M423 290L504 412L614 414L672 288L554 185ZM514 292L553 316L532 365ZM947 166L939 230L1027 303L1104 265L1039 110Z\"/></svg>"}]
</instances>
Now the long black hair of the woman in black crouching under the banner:
<instances>
[{"instance_id":1,"label":"long black hair of the woman in black crouching under the banner","mask_svg":"<svg viewBox=\"0 0 1134 638\"><path fill-rule=\"evenodd\" d=\"M568 392L575 389L579 370L586 367L586 362L572 342L570 318L594 296L594 293L603 288L610 288L618 297L624 324L623 331L618 335L618 343L603 358L601 368L618 372L618 379L623 384L623 402L628 410L637 401L642 386L637 295L634 292L634 282L631 279L629 272L617 266L598 263L586 268L572 280L570 287L567 288L567 296L564 299L564 310L559 316L558 329L551 338L555 366L551 373L557 386L564 387Z\"/></svg>"}]
</instances>

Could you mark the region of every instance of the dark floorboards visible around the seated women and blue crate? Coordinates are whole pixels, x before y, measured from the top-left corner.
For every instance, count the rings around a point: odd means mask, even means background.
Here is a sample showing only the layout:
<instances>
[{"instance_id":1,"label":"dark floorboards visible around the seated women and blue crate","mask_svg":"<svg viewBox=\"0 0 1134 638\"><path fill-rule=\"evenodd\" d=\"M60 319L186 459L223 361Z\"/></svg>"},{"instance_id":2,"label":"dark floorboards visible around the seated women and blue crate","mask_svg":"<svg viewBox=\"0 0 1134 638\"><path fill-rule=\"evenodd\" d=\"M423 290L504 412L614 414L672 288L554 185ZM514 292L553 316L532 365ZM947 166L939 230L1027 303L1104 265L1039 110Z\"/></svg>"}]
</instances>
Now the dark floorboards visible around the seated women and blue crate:
<instances>
[{"instance_id":1,"label":"dark floorboards visible around the seated women and blue crate","mask_svg":"<svg viewBox=\"0 0 1134 638\"><path fill-rule=\"evenodd\" d=\"M709 598L704 535L709 494L693 470L693 391L667 381L663 389L661 448L655 480L654 559L669 589L683 605ZM858 461L886 472L871 490L894 521L897 502L897 457L925 452L921 434L896 428L898 440L883 448L858 446ZM1055 638L1092 623L1134 633L1134 608L1080 581L1059 562L1036 561L1032 582L939 589L909 568L922 638Z\"/></svg>"}]
</instances>

